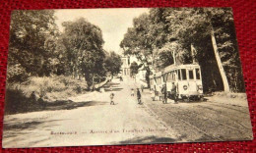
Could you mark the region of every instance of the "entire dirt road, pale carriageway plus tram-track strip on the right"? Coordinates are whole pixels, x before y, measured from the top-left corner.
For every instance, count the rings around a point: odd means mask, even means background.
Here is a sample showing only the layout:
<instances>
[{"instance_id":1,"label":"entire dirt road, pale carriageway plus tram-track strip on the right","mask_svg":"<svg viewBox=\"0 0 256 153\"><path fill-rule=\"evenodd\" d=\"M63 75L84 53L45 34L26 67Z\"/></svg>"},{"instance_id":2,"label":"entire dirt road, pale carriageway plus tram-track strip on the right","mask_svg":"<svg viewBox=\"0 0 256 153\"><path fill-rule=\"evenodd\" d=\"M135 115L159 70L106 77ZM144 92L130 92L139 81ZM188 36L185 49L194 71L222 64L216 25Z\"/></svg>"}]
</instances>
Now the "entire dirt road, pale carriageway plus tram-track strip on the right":
<instances>
[{"instance_id":1,"label":"entire dirt road, pale carriageway plus tram-track strip on the right","mask_svg":"<svg viewBox=\"0 0 256 153\"><path fill-rule=\"evenodd\" d=\"M206 102L167 104L142 93L143 105L131 96L139 86L129 77L113 79L105 92L72 97L83 107L5 117L4 147L77 146L153 142L251 139L246 105ZM112 91L110 90L112 88ZM115 105L110 105L110 92ZM246 103L245 100L241 103Z\"/></svg>"}]
</instances>

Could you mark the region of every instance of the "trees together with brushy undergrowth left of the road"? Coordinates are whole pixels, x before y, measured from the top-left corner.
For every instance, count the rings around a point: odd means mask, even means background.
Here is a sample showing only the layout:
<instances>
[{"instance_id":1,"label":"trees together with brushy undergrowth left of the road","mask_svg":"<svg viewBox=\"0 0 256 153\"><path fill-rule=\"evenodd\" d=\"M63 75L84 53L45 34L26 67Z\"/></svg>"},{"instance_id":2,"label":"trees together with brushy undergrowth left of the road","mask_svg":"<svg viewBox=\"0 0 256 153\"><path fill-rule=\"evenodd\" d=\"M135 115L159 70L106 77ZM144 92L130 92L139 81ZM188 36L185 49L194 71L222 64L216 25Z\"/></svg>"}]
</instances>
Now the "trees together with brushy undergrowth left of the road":
<instances>
[{"instance_id":1,"label":"trees together with brushy undergrowth left of the road","mask_svg":"<svg viewBox=\"0 0 256 153\"><path fill-rule=\"evenodd\" d=\"M14 11L10 26L6 114L71 105L120 72L121 56L105 51L98 26L81 18L55 24L53 10Z\"/></svg>"}]
</instances>

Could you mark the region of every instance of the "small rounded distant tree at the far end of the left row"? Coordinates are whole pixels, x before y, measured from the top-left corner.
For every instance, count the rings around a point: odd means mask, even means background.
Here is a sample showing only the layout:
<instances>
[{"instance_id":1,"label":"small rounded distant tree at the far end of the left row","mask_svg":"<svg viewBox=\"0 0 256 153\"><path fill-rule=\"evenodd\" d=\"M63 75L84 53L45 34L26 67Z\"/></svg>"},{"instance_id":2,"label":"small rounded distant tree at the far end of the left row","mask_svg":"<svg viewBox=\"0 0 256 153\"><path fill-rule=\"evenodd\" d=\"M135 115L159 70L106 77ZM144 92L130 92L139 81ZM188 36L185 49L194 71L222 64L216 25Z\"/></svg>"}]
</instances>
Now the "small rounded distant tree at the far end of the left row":
<instances>
[{"instance_id":1,"label":"small rounded distant tree at the far end of the left row","mask_svg":"<svg viewBox=\"0 0 256 153\"><path fill-rule=\"evenodd\" d=\"M108 55L106 55L104 63L106 71L110 73L112 76L120 73L122 66L122 60L120 55L111 51L110 53L108 53Z\"/></svg>"}]
</instances>

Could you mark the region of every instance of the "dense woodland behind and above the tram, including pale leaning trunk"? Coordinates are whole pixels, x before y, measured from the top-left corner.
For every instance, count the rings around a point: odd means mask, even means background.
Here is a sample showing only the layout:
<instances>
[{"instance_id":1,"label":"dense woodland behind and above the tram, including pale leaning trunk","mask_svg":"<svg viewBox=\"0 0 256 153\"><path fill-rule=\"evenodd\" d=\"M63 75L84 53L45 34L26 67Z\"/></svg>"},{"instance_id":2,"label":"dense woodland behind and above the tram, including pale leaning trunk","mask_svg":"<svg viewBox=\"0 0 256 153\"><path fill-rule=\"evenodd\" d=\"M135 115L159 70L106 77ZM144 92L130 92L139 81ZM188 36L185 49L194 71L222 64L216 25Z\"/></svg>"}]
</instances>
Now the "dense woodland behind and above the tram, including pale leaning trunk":
<instances>
[{"instance_id":1,"label":"dense woodland behind and above the tram, including pale leaning trunk","mask_svg":"<svg viewBox=\"0 0 256 153\"><path fill-rule=\"evenodd\" d=\"M244 91L230 8L151 9L134 19L120 47L141 61L148 82L151 68L191 64L194 59L201 66L205 92Z\"/></svg>"}]
</instances>

